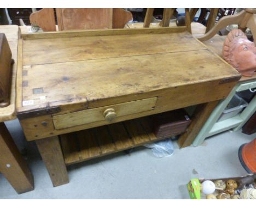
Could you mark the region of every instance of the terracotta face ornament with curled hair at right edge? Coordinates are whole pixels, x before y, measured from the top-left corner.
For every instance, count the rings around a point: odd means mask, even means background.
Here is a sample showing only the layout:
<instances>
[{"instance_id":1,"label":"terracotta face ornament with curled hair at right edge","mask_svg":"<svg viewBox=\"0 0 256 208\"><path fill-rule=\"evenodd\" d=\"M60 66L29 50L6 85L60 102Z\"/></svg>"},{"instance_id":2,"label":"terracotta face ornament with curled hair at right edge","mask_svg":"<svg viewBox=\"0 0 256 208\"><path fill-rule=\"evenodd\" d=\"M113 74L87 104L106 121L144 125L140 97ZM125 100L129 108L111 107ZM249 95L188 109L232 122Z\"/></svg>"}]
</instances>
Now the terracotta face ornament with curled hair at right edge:
<instances>
[{"instance_id":1,"label":"terracotta face ornament with curled hair at right edge","mask_svg":"<svg viewBox=\"0 0 256 208\"><path fill-rule=\"evenodd\" d=\"M256 47L242 30L231 30L224 41L222 55L243 76L256 74Z\"/></svg>"}]
</instances>

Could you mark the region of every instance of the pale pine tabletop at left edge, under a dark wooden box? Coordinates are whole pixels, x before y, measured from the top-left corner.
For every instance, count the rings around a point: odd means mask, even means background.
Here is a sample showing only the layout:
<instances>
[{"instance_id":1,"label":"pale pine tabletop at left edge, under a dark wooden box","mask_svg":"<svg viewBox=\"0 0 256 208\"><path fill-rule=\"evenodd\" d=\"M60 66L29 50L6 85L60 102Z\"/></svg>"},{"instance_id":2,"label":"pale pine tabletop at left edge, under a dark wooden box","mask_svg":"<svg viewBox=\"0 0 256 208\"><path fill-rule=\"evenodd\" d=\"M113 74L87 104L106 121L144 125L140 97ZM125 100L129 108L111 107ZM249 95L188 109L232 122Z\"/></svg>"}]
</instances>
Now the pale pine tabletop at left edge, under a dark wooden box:
<instances>
[{"instance_id":1,"label":"pale pine tabletop at left edge, under a dark wooden box","mask_svg":"<svg viewBox=\"0 0 256 208\"><path fill-rule=\"evenodd\" d=\"M17 48L18 48L18 33L19 27L16 25L0 26L0 33L5 33L13 59L13 75L11 81L11 95L10 105L4 108L0 108L0 122L13 120L16 118L15 114L15 85L16 85L16 66L17 66Z\"/></svg>"}]
</instances>

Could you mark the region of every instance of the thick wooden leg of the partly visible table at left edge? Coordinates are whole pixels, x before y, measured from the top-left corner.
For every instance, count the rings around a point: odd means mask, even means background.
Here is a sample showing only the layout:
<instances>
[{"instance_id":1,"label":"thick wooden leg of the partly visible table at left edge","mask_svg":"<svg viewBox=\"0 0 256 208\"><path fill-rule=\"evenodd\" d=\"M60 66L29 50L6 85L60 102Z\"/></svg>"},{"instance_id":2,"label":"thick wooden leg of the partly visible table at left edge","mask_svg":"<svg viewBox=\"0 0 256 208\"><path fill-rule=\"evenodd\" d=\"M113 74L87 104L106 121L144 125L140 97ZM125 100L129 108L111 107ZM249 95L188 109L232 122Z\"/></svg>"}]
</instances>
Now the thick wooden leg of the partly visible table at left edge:
<instances>
[{"instance_id":1,"label":"thick wooden leg of the partly visible table at left edge","mask_svg":"<svg viewBox=\"0 0 256 208\"><path fill-rule=\"evenodd\" d=\"M33 175L4 123L0 123L0 172L19 194L34 189Z\"/></svg>"}]
</instances>

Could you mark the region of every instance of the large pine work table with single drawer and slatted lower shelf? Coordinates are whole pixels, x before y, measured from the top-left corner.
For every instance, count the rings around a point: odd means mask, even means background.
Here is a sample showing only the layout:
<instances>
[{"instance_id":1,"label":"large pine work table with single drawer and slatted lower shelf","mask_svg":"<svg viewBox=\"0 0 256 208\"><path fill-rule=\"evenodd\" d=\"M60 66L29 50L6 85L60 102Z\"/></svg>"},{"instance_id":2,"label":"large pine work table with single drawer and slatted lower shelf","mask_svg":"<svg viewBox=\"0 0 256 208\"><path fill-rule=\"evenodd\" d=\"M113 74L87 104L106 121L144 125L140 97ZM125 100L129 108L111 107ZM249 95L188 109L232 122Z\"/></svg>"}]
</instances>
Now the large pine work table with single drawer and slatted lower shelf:
<instances>
[{"instance_id":1,"label":"large pine work table with single drawer and slatted lower shelf","mask_svg":"<svg viewBox=\"0 0 256 208\"><path fill-rule=\"evenodd\" d=\"M63 142L63 134L110 126L118 151L124 149L120 123L133 131L131 119L197 105L178 141L185 147L241 77L185 27L24 34L18 54L17 117L54 186L68 182L68 161L86 160L85 151L71 152L72 145L63 150L58 136ZM80 142L93 137L78 134ZM136 145L143 143L143 133L132 135Z\"/></svg>"}]
</instances>

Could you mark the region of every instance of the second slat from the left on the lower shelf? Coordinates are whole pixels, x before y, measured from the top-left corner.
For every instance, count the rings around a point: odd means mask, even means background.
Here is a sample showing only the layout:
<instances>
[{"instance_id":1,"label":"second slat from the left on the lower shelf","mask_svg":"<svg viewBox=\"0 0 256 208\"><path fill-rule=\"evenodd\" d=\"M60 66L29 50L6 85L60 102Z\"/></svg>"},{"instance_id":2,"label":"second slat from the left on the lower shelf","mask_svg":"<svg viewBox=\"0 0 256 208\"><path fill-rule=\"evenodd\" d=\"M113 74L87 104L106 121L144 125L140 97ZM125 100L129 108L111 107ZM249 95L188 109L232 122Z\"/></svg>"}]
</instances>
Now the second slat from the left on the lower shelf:
<instances>
[{"instance_id":1,"label":"second slat from the left on the lower shelf","mask_svg":"<svg viewBox=\"0 0 256 208\"><path fill-rule=\"evenodd\" d=\"M94 136L94 132L91 129L79 131L77 132L77 135L79 139L82 160L88 160L89 158L102 155L100 146L98 145Z\"/></svg>"}]
</instances>

